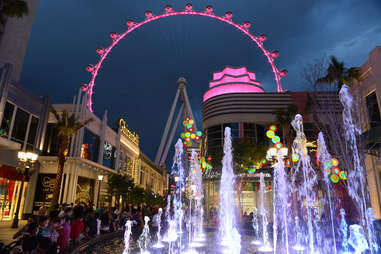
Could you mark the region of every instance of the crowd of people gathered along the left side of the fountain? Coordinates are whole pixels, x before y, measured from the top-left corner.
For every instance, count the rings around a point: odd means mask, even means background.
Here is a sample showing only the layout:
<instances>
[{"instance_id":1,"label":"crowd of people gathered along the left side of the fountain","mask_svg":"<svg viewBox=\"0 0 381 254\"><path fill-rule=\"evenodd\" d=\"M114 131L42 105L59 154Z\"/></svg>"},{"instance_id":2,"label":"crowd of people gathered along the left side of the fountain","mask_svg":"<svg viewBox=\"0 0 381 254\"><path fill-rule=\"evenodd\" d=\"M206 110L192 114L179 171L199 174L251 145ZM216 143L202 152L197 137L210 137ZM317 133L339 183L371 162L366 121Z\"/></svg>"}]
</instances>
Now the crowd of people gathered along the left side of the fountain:
<instances>
[{"instance_id":1,"label":"crowd of people gathered along the left side of the fountain","mask_svg":"<svg viewBox=\"0 0 381 254\"><path fill-rule=\"evenodd\" d=\"M127 220L134 221L132 234L137 239L144 226L144 216L150 217L153 230L157 227L157 219L154 218L157 212L157 208L148 206L125 210L116 207L93 209L84 203L63 204L59 209L47 212L46 207L42 206L39 214L29 217L27 224L13 238L19 238L22 246L20 253L69 253L81 242L98 235L123 231Z\"/></svg>"}]
</instances>

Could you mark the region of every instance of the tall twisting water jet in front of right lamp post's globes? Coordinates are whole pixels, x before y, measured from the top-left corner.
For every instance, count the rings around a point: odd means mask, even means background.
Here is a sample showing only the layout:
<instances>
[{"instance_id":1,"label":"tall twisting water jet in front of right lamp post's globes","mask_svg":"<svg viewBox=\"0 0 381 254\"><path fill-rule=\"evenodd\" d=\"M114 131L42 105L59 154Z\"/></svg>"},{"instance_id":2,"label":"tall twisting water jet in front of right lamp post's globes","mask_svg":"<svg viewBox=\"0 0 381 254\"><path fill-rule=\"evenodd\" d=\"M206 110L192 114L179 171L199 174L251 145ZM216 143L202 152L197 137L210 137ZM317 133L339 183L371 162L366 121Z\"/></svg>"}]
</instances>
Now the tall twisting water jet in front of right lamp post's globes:
<instances>
[{"instance_id":1,"label":"tall twisting water jet in front of right lamp post's globes","mask_svg":"<svg viewBox=\"0 0 381 254\"><path fill-rule=\"evenodd\" d=\"M307 151L307 139L303 130L303 117L297 114L291 122L292 127L296 132L296 137L292 143L292 154L298 157L297 163L294 165L294 174L292 176L293 191L297 192L297 197L300 202L302 211L306 211L307 229L308 229L308 244L309 253L315 252L315 232L313 228L312 208L314 207L316 197L313 188L317 184L317 176L311 166L310 157ZM302 174L303 181L301 186L297 185L296 179L299 174Z\"/></svg>"}]
</instances>

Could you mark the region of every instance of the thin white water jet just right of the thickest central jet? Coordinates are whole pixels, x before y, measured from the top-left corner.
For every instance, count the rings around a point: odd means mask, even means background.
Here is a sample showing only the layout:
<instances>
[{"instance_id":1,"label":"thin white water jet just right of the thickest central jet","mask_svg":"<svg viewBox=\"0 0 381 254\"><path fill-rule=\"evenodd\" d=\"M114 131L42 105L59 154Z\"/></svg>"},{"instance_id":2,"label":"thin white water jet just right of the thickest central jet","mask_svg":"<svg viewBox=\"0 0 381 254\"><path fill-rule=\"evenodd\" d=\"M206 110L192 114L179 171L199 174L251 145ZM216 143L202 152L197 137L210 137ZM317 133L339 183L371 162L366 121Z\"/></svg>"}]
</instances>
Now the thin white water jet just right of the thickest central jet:
<instances>
[{"instance_id":1,"label":"thin white water jet just right of the thickest central jet","mask_svg":"<svg viewBox=\"0 0 381 254\"><path fill-rule=\"evenodd\" d=\"M270 252L272 251L272 247L269 242L269 234L267 232L267 211L265 209L265 191L266 191L266 185L265 185L265 177L263 173L261 172L259 174L259 200L260 200L260 214L262 218L262 246L259 247L259 251L262 252Z\"/></svg>"}]
</instances>

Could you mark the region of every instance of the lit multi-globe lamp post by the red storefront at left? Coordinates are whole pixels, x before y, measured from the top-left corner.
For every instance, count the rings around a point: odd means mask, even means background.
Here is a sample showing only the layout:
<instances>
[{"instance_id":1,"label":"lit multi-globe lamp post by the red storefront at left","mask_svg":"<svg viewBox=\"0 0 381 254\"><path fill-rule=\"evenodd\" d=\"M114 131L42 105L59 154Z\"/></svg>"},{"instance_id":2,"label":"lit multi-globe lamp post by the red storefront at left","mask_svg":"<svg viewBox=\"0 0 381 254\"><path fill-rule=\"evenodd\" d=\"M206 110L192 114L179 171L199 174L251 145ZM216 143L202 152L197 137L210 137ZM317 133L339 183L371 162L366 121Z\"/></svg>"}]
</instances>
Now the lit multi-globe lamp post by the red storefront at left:
<instances>
[{"instance_id":1,"label":"lit multi-globe lamp post by the red storefront at left","mask_svg":"<svg viewBox=\"0 0 381 254\"><path fill-rule=\"evenodd\" d=\"M13 218L12 222L12 228L18 228L19 227L19 212L20 212L20 205L21 205L21 198L22 198L22 192L24 189L24 181L25 177L29 173L29 168L32 166L32 164L37 160L38 155L35 153L30 152L18 152L17 157L19 161L23 164L23 172L22 172L22 178L21 178L21 186L19 190L19 196L17 199L17 205L16 205L16 211L15 216Z\"/></svg>"}]
</instances>

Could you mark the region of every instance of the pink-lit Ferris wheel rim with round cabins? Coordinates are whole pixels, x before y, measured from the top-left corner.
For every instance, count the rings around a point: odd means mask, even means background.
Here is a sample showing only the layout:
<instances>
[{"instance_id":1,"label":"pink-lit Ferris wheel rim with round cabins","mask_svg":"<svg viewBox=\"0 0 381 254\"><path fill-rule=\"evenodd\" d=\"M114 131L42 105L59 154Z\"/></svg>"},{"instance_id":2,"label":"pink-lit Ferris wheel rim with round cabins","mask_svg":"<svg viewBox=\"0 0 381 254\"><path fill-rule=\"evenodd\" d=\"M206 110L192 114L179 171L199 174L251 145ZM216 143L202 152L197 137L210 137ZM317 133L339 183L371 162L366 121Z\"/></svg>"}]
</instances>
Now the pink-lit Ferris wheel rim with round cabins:
<instances>
[{"instance_id":1,"label":"pink-lit Ferris wheel rim with round cabins","mask_svg":"<svg viewBox=\"0 0 381 254\"><path fill-rule=\"evenodd\" d=\"M286 90L284 90L282 88L280 80L282 77L286 77L288 72L285 69L278 70L278 68L275 66L275 63L274 63L275 58L277 58L279 56L279 51L277 51L277 50L273 50L271 52L268 51L263 46L263 42L266 41L266 39L267 39L266 35L261 34L259 36L255 36L252 33L250 33L249 29L251 27L251 23L249 21L244 22L242 25L233 22L232 21L233 14L230 11L226 12L224 16L217 16L213 13L213 7L210 5L205 8L204 12L194 11L192 4L186 4L184 11L174 11L170 5L167 5L165 7L165 13L163 13L161 15L154 16L151 11L146 11L145 12L145 16L146 16L145 20L138 22L138 23L135 23L133 20L128 20L126 22L128 28L125 32L123 32L122 34L118 34L116 32L110 33L110 37L112 39L111 45L108 46L107 48L98 48L96 50L96 52L100 56L100 59L99 59L97 64L95 64L95 65L89 64L86 67L86 70L91 74L91 80L88 84L83 84L81 86L82 91L87 93L87 107L91 112L93 112L92 96L94 94L95 80L98 76L99 69L101 68L101 66L103 64L103 61L110 54L111 50L119 43L119 41L122 40L123 38L125 38L127 35L129 35L133 31L135 31L136 29L140 28L141 26L143 26L147 23L150 23L150 22L158 20L158 19L171 17L171 16L179 16L179 15L197 15L197 16L204 16L204 17L209 17L212 19L220 20L220 21L223 21L229 25L234 26L235 28L240 30L242 33L247 35L251 39L251 41L255 42L257 47L262 50L263 54L266 56L268 62L270 63L272 71L274 73L275 81L277 84L278 93L286 92Z\"/></svg>"}]
</instances>

